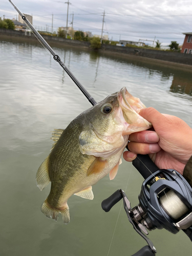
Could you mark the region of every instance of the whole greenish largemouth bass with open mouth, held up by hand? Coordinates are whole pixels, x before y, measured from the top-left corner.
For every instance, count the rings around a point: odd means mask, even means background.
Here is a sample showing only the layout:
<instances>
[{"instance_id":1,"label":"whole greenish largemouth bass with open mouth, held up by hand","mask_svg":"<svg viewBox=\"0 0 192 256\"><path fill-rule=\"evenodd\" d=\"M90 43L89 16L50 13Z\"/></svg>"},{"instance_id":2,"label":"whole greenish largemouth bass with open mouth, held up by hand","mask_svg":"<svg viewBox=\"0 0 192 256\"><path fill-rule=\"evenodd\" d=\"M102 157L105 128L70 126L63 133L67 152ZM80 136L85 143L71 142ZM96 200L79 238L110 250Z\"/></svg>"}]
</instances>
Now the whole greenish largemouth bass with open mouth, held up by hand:
<instances>
[{"instance_id":1,"label":"whole greenish largemouth bass with open mouth, held up by hand","mask_svg":"<svg viewBox=\"0 0 192 256\"><path fill-rule=\"evenodd\" d=\"M52 151L36 174L40 190L51 181L41 206L48 218L57 220L61 214L69 223L67 201L72 195L93 199L92 185L109 173L115 178L129 135L151 127L138 114L142 108L140 99L124 87L81 113L65 130L53 132Z\"/></svg>"}]
</instances>

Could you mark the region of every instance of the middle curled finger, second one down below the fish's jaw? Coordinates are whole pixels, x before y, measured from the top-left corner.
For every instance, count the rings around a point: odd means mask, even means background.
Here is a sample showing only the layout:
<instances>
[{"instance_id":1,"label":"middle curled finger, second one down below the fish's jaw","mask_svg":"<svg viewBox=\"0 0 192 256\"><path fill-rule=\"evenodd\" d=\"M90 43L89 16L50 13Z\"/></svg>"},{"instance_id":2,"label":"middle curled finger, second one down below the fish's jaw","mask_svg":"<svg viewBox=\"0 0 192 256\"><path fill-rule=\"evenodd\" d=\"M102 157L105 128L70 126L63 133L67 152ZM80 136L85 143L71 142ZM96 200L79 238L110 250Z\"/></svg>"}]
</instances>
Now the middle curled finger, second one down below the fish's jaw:
<instances>
[{"instance_id":1,"label":"middle curled finger, second one down below the fish's jaw","mask_svg":"<svg viewBox=\"0 0 192 256\"><path fill-rule=\"evenodd\" d=\"M138 142L132 142L130 141L128 143L129 151L135 153L135 154L151 154L151 153L157 153L161 150L161 147L158 143L154 144L147 144L147 143L138 143Z\"/></svg>"}]
</instances>

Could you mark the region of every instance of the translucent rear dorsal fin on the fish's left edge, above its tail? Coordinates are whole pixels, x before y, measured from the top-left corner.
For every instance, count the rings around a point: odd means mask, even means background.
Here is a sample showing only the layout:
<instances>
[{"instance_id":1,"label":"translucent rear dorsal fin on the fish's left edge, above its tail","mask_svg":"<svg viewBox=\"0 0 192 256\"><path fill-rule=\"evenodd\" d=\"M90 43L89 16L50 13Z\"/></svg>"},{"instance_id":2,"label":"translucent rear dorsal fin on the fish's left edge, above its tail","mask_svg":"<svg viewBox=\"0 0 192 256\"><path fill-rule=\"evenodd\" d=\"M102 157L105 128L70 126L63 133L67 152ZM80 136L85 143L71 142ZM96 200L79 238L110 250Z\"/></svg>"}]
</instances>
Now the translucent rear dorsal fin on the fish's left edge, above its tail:
<instances>
[{"instance_id":1,"label":"translucent rear dorsal fin on the fish's left edge, above its tail","mask_svg":"<svg viewBox=\"0 0 192 256\"><path fill-rule=\"evenodd\" d=\"M36 174L37 187L42 191L50 182L49 177L49 156L41 163Z\"/></svg>"}]
</instances>

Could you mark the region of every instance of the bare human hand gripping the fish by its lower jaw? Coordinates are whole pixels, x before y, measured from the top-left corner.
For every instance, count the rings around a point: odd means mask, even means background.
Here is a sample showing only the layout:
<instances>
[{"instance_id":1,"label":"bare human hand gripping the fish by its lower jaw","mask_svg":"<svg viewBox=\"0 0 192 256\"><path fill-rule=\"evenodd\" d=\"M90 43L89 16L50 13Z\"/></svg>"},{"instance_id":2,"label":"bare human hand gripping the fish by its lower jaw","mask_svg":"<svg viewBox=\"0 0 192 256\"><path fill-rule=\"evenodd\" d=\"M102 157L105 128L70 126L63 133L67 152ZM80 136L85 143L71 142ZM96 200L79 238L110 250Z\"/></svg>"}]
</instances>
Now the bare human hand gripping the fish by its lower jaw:
<instances>
[{"instance_id":1,"label":"bare human hand gripping the fish by its lower jaw","mask_svg":"<svg viewBox=\"0 0 192 256\"><path fill-rule=\"evenodd\" d=\"M183 174L192 155L192 129L182 119L154 108L141 109L139 115L151 122L155 131L132 133L130 151L125 151L123 158L131 162L137 154L148 154L158 168L172 168Z\"/></svg>"}]
</instances>

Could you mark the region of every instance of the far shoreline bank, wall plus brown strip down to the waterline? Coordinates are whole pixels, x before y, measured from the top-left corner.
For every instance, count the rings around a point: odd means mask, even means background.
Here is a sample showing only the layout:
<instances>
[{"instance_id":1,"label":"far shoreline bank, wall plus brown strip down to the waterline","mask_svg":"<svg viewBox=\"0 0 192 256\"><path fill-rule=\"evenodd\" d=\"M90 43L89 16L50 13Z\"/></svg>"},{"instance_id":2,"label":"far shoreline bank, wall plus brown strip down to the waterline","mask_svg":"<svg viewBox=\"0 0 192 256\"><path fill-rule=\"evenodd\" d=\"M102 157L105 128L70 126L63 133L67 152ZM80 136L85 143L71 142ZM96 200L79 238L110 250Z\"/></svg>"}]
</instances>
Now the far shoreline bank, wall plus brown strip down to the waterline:
<instances>
[{"instance_id":1,"label":"far shoreline bank, wall plus brown strip down to the waterline","mask_svg":"<svg viewBox=\"0 0 192 256\"><path fill-rule=\"evenodd\" d=\"M3 31L2 31L3 30ZM15 33L16 32L16 33ZM18 33L17 33L18 32ZM0 29L0 39L12 39L15 42L36 42L41 45L37 38L31 34L23 35L20 31L8 31L6 29ZM166 52L166 51L157 51L157 50L148 50L148 49L139 49L139 54L135 53L135 48L132 47L118 47L111 45L101 45L101 48L98 50L93 50L90 47L90 42L78 41L71 39L64 39L60 37L52 37L42 35L44 39L48 42L51 47L72 47L87 49L88 51L97 51L101 54L121 56L123 58L135 59L144 62L153 62L154 64L163 65L164 67L173 67L180 70L192 71L192 56L189 54L181 54L175 52ZM138 48L137 48L138 49ZM163 59L164 58L164 59ZM168 59L168 60L167 60ZM174 61L175 60L175 61ZM184 63L186 60L186 64Z\"/></svg>"}]
</instances>

